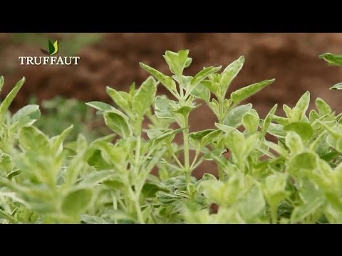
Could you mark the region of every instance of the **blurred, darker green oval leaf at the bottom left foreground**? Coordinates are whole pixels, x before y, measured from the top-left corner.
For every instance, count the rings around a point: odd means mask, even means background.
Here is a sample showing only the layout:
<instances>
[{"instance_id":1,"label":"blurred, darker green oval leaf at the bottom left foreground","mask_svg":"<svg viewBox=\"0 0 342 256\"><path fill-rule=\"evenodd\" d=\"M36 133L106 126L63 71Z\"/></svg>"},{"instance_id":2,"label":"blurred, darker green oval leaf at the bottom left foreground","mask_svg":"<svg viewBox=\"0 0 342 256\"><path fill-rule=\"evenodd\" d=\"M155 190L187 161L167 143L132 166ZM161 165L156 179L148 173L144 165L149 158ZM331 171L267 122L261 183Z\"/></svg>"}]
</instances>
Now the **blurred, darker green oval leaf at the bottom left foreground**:
<instances>
[{"instance_id":1,"label":"blurred, darker green oval leaf at the bottom left foreground","mask_svg":"<svg viewBox=\"0 0 342 256\"><path fill-rule=\"evenodd\" d=\"M93 191L90 188L80 188L69 192L68 195L63 198L63 213L73 217L80 215L86 210L92 197Z\"/></svg>"}]
</instances>

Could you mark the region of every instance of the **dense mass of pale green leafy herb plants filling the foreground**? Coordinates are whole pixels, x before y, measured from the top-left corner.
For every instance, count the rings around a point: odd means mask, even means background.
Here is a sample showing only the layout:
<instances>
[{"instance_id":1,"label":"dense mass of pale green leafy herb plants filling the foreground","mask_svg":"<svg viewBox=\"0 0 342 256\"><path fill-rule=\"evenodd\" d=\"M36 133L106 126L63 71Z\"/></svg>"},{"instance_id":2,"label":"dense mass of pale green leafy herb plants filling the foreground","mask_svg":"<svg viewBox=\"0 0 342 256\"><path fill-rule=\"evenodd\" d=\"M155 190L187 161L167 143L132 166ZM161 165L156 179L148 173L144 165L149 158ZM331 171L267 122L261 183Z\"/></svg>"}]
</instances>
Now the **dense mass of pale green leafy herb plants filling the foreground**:
<instances>
[{"instance_id":1,"label":"dense mass of pale green leafy herb plants filling the foreground","mask_svg":"<svg viewBox=\"0 0 342 256\"><path fill-rule=\"evenodd\" d=\"M86 103L113 132L93 142L63 144L72 127L48 137L33 126L37 105L11 116L24 80L14 87L0 105L3 223L342 223L342 114L321 98L308 113L306 92L261 118L243 102L273 79L227 96L244 57L194 76L183 74L188 50L164 58L171 75L140 63L151 76L139 87L107 87L113 105ZM201 102L216 129L190 129ZM217 176L192 176L204 161Z\"/></svg>"}]
</instances>

